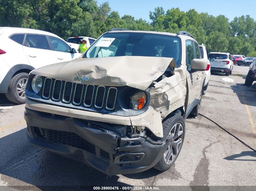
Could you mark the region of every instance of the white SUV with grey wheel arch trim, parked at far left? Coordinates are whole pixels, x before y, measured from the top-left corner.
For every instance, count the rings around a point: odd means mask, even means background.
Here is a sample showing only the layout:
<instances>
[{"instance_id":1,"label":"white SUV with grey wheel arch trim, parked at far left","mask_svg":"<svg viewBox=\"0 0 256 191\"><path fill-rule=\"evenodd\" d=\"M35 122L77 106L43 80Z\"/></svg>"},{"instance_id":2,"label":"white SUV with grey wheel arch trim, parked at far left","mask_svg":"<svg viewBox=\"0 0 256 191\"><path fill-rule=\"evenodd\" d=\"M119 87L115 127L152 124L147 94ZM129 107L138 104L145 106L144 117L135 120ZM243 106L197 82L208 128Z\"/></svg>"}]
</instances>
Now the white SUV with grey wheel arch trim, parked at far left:
<instances>
[{"instance_id":1,"label":"white SUV with grey wheel arch trim, parked at far left","mask_svg":"<svg viewBox=\"0 0 256 191\"><path fill-rule=\"evenodd\" d=\"M81 56L62 38L42 30L0 27L0 42L0 93L14 103L25 103L30 71Z\"/></svg>"}]
</instances>

